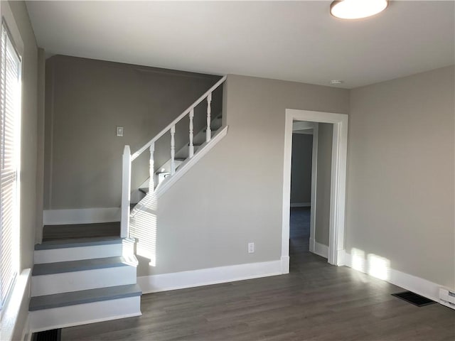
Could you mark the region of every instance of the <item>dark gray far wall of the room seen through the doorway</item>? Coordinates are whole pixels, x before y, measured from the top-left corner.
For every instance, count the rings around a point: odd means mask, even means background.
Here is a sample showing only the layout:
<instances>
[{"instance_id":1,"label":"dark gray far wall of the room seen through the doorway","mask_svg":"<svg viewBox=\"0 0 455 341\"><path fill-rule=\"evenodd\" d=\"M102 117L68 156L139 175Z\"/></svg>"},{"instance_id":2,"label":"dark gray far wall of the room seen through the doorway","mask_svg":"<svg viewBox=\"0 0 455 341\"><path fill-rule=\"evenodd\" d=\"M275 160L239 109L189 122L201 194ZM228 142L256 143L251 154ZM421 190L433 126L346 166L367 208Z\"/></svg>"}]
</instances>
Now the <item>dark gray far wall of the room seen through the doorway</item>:
<instances>
[{"instance_id":1,"label":"dark gray far wall of the room seen through the doorway","mask_svg":"<svg viewBox=\"0 0 455 341\"><path fill-rule=\"evenodd\" d=\"M311 202L313 135L292 134L291 204Z\"/></svg>"}]
</instances>

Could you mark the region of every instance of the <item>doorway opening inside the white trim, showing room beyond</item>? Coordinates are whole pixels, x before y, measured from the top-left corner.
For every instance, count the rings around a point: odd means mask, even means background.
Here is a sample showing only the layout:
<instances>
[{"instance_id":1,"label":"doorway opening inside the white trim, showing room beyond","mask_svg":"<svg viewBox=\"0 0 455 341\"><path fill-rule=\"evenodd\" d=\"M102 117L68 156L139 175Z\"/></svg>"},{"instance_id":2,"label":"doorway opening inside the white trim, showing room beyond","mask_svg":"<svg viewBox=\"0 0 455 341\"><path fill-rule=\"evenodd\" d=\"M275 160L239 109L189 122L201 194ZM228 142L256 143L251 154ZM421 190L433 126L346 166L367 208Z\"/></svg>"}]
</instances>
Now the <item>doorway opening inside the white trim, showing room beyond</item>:
<instances>
[{"instance_id":1,"label":"doorway opening inside the white trim, showing room beyond","mask_svg":"<svg viewBox=\"0 0 455 341\"><path fill-rule=\"evenodd\" d=\"M333 124L292 123L289 256L328 258Z\"/></svg>"}]
</instances>

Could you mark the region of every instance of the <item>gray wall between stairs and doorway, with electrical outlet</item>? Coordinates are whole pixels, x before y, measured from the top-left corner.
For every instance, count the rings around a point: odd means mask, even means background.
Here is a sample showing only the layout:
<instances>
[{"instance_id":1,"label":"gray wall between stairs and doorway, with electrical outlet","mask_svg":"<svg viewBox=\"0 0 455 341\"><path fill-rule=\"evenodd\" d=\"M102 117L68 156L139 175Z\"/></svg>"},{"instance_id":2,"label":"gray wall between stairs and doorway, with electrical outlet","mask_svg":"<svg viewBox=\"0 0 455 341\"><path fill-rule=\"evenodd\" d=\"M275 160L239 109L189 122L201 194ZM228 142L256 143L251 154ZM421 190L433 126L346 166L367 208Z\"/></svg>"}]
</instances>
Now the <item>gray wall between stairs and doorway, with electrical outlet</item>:
<instances>
[{"instance_id":1,"label":"gray wall between stairs and doorway, with electrical outlet","mask_svg":"<svg viewBox=\"0 0 455 341\"><path fill-rule=\"evenodd\" d=\"M226 90L228 135L159 198L156 266L139 259L139 276L279 260L285 109L349 109L333 87L228 75Z\"/></svg>"}]
</instances>

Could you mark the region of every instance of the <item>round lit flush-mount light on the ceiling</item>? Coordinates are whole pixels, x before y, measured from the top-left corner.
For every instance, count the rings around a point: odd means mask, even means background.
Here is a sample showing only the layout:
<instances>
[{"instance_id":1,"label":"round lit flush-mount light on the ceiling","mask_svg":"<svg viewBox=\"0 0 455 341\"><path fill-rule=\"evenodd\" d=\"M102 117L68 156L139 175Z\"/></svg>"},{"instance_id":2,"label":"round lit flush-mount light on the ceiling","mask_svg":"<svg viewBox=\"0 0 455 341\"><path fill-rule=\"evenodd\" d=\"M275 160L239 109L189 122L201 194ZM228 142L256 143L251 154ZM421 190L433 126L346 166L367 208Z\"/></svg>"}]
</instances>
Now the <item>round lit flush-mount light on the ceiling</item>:
<instances>
[{"instance_id":1,"label":"round lit flush-mount light on the ceiling","mask_svg":"<svg viewBox=\"0 0 455 341\"><path fill-rule=\"evenodd\" d=\"M332 16L341 19L360 19L374 16L387 8L387 0L341 0L330 5Z\"/></svg>"}]
</instances>

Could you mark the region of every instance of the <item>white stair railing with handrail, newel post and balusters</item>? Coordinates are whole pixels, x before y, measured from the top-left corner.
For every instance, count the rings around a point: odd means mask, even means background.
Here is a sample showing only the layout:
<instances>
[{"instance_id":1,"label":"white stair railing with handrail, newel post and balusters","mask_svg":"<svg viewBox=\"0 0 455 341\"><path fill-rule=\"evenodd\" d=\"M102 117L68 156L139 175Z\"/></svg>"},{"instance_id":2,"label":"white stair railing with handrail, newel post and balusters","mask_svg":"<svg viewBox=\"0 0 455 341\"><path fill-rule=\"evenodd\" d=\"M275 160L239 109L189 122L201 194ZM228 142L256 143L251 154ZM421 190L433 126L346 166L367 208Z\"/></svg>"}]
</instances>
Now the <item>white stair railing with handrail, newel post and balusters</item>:
<instances>
[{"instance_id":1,"label":"white stair railing with handrail, newel post and balusters","mask_svg":"<svg viewBox=\"0 0 455 341\"><path fill-rule=\"evenodd\" d=\"M150 183L149 183L149 193L154 191L154 150L155 142L166 133L171 134L171 175L176 173L176 143L175 143L175 134L176 134L176 124L188 115L190 124L189 124L189 141L188 144L188 158L193 157L194 155L194 146L193 146L193 117L194 117L194 108L203 102L204 99L207 99L207 130L205 135L205 140L208 142L212 138L212 132L210 130L210 114L211 114L211 102L212 102L212 92L216 90L220 85L225 82L226 76L221 78L218 82L210 87L205 94L199 97L196 102L191 104L184 112L182 112L176 119L174 119L166 128L161 130L156 136L151 139L149 142L144 144L139 148L135 153L131 153L131 150L128 145L124 147L123 158L122 158L122 220L120 223L120 237L127 238L129 237L129 212L131 204L131 169L132 162L139 156L141 153L144 153L146 149L150 151L150 163L149 163L149 174L150 174Z\"/></svg>"}]
</instances>

